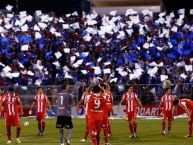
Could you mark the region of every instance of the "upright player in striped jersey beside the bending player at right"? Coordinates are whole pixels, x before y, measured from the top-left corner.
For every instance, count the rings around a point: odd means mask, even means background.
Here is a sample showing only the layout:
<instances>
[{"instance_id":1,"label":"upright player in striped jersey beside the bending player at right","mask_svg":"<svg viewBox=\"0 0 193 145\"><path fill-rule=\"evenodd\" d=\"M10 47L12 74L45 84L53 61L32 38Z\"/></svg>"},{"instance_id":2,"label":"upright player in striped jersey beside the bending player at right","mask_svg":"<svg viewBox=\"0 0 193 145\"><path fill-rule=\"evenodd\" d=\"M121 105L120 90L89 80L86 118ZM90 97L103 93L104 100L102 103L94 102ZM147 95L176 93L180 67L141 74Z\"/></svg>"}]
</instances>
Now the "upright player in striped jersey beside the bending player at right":
<instances>
[{"instance_id":1,"label":"upright player in striped jersey beside the bending player at right","mask_svg":"<svg viewBox=\"0 0 193 145\"><path fill-rule=\"evenodd\" d=\"M171 92L172 92L171 88L165 89L165 94L162 96L159 104L159 108L158 108L160 110L161 106L163 106L162 135L166 135L166 132L165 132L166 120L168 119L168 134L170 134L171 132L172 121L174 120L173 101L175 97L171 95Z\"/></svg>"}]
</instances>

